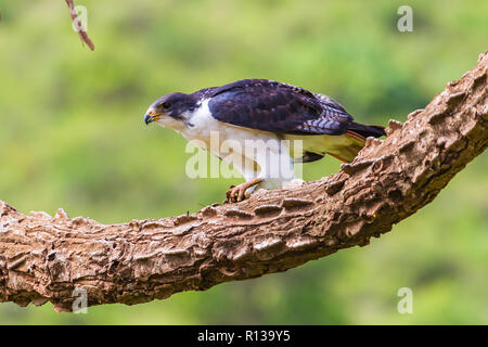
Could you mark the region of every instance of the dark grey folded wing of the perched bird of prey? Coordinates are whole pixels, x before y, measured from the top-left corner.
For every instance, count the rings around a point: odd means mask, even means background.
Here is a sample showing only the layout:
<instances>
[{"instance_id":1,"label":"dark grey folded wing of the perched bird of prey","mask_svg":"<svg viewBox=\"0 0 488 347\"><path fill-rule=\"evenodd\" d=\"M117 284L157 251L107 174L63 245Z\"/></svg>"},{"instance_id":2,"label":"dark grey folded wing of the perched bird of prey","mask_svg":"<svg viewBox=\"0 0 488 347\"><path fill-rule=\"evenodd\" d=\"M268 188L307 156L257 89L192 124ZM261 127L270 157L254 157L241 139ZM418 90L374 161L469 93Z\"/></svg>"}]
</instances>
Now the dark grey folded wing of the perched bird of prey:
<instances>
[{"instance_id":1,"label":"dark grey folded wing of the perched bird of prey","mask_svg":"<svg viewBox=\"0 0 488 347\"><path fill-rule=\"evenodd\" d=\"M343 134L352 117L330 98L262 79L219 87L208 103L214 118L234 126L295 134Z\"/></svg>"}]
</instances>

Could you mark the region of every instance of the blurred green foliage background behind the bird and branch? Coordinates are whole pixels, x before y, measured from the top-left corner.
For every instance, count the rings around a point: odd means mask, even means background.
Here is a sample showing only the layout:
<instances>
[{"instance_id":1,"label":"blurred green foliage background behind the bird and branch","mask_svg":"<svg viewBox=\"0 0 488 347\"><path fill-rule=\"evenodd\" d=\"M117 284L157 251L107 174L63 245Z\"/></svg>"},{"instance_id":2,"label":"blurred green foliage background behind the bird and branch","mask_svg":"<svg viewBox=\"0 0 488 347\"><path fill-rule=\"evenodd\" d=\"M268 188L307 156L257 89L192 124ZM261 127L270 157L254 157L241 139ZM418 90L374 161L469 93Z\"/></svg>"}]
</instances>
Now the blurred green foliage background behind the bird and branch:
<instances>
[{"instance_id":1,"label":"blurred green foliage background behind the bird and branch","mask_svg":"<svg viewBox=\"0 0 488 347\"><path fill-rule=\"evenodd\" d=\"M64 0L0 1L0 200L111 223L195 211L239 179L189 179L185 140L146 127L156 98L270 78L404 121L488 49L487 1L115 1L88 8L95 51ZM413 9L413 33L397 10ZM337 171L333 158L307 180ZM132 307L55 313L0 304L0 324L487 324L488 156L372 240L284 273ZM399 314L397 292L413 291Z\"/></svg>"}]
</instances>

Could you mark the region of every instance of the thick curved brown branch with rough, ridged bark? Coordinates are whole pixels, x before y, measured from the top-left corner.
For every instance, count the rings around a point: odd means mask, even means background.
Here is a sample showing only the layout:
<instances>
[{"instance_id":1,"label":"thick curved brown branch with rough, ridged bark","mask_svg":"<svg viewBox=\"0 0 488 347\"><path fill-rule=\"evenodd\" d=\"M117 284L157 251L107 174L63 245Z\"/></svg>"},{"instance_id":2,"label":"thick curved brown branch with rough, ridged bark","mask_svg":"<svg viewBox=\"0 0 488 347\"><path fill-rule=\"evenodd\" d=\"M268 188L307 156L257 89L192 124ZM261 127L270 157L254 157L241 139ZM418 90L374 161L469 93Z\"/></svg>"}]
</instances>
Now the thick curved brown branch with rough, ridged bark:
<instances>
[{"instance_id":1,"label":"thick curved brown branch with rough, ridged bark","mask_svg":"<svg viewBox=\"0 0 488 347\"><path fill-rule=\"evenodd\" d=\"M0 301L69 310L73 290L84 287L89 305L132 305L368 245L484 152L487 66L485 53L425 110L390 120L386 140L368 139L339 172L301 187L111 226L62 209L24 216L0 202Z\"/></svg>"}]
</instances>

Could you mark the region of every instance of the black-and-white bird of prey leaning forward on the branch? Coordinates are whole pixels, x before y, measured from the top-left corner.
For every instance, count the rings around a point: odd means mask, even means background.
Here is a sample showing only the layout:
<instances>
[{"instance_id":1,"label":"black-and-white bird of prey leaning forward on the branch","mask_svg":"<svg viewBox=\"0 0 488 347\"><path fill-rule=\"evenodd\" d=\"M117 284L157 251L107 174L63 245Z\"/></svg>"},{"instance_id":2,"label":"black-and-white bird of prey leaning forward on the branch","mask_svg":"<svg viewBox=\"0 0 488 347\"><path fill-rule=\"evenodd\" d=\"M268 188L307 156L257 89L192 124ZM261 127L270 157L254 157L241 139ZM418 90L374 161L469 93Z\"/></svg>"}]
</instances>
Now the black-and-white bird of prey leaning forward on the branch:
<instances>
[{"instance_id":1,"label":"black-and-white bird of prey leaning forward on the branch","mask_svg":"<svg viewBox=\"0 0 488 347\"><path fill-rule=\"evenodd\" d=\"M227 191L229 202L242 201L258 188L286 185L297 162L326 154L351 162L368 137L385 136L384 127L355 123L326 95L268 79L166 94L151 104L144 121L172 128L189 141L200 140L205 150L232 164L245 182ZM239 145L227 146L226 156L222 146L210 146L213 133ZM255 142L272 144L247 151ZM296 142L300 145L290 144Z\"/></svg>"}]
</instances>

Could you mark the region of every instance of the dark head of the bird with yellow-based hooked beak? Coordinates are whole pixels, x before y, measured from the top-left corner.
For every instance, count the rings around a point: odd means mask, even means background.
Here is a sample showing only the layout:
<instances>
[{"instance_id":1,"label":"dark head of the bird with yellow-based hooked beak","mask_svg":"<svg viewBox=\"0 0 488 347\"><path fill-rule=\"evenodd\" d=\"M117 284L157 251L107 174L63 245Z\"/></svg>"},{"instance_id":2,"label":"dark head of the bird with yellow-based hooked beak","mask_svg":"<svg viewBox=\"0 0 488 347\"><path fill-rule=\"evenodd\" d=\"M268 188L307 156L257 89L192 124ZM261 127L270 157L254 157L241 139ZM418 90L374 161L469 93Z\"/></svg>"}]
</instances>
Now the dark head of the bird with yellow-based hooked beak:
<instances>
[{"instance_id":1,"label":"dark head of the bird with yellow-based hooked beak","mask_svg":"<svg viewBox=\"0 0 488 347\"><path fill-rule=\"evenodd\" d=\"M195 100L191 94L171 93L157 99L147 108L144 116L146 125L156 121L162 126L169 126L175 121L185 120L187 114L195 107Z\"/></svg>"}]
</instances>

